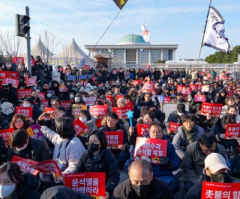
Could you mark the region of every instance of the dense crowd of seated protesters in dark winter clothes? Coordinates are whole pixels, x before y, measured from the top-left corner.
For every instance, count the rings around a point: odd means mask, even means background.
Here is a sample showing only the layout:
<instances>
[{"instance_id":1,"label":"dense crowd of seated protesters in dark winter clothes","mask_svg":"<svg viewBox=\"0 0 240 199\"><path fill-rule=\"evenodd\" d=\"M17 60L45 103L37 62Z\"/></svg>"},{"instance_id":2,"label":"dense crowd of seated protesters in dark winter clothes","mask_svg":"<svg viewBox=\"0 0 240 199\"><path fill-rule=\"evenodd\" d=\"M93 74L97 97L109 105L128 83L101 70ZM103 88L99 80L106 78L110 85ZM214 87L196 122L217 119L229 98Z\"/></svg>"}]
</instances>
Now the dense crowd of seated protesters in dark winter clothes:
<instances>
[{"instance_id":1,"label":"dense crowd of seated protesters in dark winter clothes","mask_svg":"<svg viewBox=\"0 0 240 199\"><path fill-rule=\"evenodd\" d=\"M230 183L232 177L240 178L240 139L224 136L227 124L240 122L240 79L233 79L227 71L217 74L214 70L196 69L65 68L45 65L40 56L36 60L32 57L31 71L24 63L16 65L11 61L0 64L1 71L17 71L19 85L0 88L0 130L14 129L9 143L0 137L0 198L91 198L64 186L64 181L53 174L40 172L34 176L22 172L12 162L13 156L37 162L53 159L63 177L104 172L109 199L174 198L180 190L180 179L186 198L197 199L201 198L202 181ZM69 75L76 79L69 80ZM28 77L36 78L37 85L27 87ZM144 91L146 82L154 82L155 89ZM60 89L62 85L66 86L64 91ZM188 94L177 90L178 86L192 88L191 85L199 87ZM202 85L209 85L209 90L202 92ZM31 95L19 99L17 91L29 88ZM47 107L54 108L53 117L44 112L39 92L45 94ZM206 102L222 104L221 116L202 113L202 102L196 102L195 95L205 95ZM177 104L176 110L166 114L165 102L159 101L158 96L169 98L167 104ZM84 99L88 97L95 97L95 105L108 105L100 123L91 115L90 106L78 115L72 114L74 105L86 105ZM71 101L68 110L61 105L64 101ZM119 117L113 111L114 107L129 104L132 119ZM32 118L15 114L16 107L21 106L33 108ZM86 135L76 136L76 119L88 127ZM169 123L180 126L173 132ZM41 126L44 138L29 135L27 129L34 124ZM137 124L149 125L147 138L167 140L167 155L160 157L160 164L134 160ZM123 132L123 145L117 150L108 149L104 132L118 130ZM129 179L119 183L122 171L128 172Z\"/></svg>"}]
</instances>

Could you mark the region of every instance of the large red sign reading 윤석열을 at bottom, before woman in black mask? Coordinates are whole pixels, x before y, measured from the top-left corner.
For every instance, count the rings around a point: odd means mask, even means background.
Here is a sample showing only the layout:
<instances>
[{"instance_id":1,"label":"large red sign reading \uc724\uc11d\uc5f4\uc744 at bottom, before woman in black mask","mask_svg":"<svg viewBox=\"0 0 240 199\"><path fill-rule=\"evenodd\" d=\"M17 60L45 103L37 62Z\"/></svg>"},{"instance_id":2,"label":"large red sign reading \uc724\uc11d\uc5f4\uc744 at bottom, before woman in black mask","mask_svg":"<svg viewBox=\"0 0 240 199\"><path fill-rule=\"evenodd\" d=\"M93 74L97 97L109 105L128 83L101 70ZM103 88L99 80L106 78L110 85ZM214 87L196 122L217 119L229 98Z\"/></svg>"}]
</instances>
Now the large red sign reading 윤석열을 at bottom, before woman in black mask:
<instances>
[{"instance_id":1,"label":"large red sign reading \uc724\uc11d\uc5f4\uc744 at bottom, before woman in black mask","mask_svg":"<svg viewBox=\"0 0 240 199\"><path fill-rule=\"evenodd\" d=\"M65 186L74 191L88 194L93 198L105 198L106 174L100 172L65 175Z\"/></svg>"}]
</instances>

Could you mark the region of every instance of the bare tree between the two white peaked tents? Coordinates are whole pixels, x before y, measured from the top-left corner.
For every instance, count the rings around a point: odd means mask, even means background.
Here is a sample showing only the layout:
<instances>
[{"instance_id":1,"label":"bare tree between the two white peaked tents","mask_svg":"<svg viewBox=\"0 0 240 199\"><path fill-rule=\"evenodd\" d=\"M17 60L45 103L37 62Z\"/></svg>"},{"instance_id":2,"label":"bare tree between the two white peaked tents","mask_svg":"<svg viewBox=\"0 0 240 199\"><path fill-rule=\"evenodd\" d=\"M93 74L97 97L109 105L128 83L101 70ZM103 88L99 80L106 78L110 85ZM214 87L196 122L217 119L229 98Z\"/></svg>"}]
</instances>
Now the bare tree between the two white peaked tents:
<instances>
[{"instance_id":1,"label":"bare tree between the two white peaked tents","mask_svg":"<svg viewBox=\"0 0 240 199\"><path fill-rule=\"evenodd\" d=\"M57 38L57 35L54 35L51 32L48 32L47 30L45 30L43 35L39 35L39 39L42 40L43 44L45 45L45 47L47 48L44 52L44 57L42 56L42 58L45 59L45 62L49 61L49 58L51 58L53 56L54 51L56 50L60 40Z\"/></svg>"}]
</instances>

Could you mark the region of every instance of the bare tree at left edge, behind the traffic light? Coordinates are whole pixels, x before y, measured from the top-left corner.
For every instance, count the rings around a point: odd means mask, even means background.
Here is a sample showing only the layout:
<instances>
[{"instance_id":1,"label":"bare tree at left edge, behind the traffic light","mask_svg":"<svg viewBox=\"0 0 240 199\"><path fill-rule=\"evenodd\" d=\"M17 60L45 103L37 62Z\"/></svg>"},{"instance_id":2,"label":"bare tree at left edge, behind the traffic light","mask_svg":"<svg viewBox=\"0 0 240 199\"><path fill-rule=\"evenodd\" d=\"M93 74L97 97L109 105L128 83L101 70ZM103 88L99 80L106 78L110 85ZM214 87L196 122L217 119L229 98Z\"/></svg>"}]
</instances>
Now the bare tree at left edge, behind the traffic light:
<instances>
[{"instance_id":1,"label":"bare tree at left edge, behind the traffic light","mask_svg":"<svg viewBox=\"0 0 240 199\"><path fill-rule=\"evenodd\" d=\"M0 55L11 59L18 57L24 50L24 38L17 37L14 32L0 30ZM6 56L5 56L6 55Z\"/></svg>"}]
</instances>

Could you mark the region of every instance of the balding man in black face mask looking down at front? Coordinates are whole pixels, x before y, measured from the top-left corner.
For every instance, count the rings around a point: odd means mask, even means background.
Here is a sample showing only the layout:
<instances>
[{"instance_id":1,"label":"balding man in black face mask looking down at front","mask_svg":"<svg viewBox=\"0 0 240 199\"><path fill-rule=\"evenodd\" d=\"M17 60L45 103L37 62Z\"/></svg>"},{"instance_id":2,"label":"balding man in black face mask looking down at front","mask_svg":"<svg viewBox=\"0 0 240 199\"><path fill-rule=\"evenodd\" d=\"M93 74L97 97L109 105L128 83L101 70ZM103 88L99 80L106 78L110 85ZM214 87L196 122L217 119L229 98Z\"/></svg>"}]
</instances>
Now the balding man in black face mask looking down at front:
<instances>
[{"instance_id":1,"label":"balding man in black face mask looking down at front","mask_svg":"<svg viewBox=\"0 0 240 199\"><path fill-rule=\"evenodd\" d=\"M113 199L173 199L170 188L154 177L151 164L146 160L132 162L128 174L129 179L120 183L114 190Z\"/></svg>"}]
</instances>

